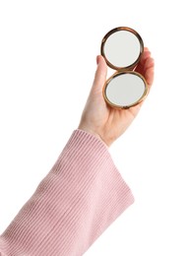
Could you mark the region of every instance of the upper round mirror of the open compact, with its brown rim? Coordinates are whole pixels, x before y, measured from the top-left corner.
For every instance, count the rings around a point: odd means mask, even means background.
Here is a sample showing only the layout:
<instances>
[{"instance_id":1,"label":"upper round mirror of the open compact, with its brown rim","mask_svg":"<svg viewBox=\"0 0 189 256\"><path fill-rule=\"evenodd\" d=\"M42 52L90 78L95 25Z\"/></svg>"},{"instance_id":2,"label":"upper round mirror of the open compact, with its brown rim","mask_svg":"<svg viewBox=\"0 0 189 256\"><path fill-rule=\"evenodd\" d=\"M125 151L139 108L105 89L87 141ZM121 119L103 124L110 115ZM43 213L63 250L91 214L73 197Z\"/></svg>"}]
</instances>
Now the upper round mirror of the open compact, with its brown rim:
<instances>
[{"instance_id":1,"label":"upper round mirror of the open compact, with its brown rim","mask_svg":"<svg viewBox=\"0 0 189 256\"><path fill-rule=\"evenodd\" d=\"M134 68L143 51L144 43L140 34L126 27L107 32L101 42L101 55L107 65L115 70Z\"/></svg>"}]
</instances>

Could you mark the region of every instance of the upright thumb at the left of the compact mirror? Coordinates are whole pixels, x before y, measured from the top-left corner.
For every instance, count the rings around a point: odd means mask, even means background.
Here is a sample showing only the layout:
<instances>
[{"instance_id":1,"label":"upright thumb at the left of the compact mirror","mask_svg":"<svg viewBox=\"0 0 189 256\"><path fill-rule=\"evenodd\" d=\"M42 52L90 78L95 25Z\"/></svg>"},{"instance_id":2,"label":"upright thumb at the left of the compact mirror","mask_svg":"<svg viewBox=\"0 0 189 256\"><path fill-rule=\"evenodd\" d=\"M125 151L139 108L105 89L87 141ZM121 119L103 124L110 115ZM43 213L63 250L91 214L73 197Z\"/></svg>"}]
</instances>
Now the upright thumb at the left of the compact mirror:
<instances>
[{"instance_id":1,"label":"upright thumb at the left of the compact mirror","mask_svg":"<svg viewBox=\"0 0 189 256\"><path fill-rule=\"evenodd\" d=\"M96 57L97 69L95 71L95 80L92 91L101 91L106 80L107 65L104 58L101 55Z\"/></svg>"}]
</instances>

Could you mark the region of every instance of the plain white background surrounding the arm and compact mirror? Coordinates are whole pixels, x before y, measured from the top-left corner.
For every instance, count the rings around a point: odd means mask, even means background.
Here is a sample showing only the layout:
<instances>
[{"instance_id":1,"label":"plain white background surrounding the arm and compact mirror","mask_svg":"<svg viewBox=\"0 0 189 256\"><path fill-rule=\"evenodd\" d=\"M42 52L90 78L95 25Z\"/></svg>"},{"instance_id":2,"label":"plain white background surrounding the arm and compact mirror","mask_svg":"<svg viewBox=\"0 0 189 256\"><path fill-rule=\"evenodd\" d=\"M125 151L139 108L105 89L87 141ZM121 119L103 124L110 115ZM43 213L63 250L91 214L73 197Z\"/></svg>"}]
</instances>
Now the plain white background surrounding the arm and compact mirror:
<instances>
[{"instance_id":1,"label":"plain white background surrounding the arm and compact mirror","mask_svg":"<svg viewBox=\"0 0 189 256\"><path fill-rule=\"evenodd\" d=\"M86 255L189 255L186 4L0 1L0 233L78 127L101 38L126 26L156 61L151 95L110 148L135 204Z\"/></svg>"}]
</instances>

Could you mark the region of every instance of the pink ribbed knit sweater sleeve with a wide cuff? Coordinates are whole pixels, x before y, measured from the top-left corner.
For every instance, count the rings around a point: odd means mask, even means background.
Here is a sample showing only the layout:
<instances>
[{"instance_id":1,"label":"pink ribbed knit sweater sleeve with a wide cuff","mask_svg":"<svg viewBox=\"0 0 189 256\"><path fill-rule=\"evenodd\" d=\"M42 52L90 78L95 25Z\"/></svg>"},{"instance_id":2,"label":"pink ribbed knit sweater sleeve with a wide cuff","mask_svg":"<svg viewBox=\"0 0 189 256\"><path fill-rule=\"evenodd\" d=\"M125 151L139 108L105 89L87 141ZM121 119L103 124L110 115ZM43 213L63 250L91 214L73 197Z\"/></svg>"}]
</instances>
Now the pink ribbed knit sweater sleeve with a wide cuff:
<instances>
[{"instance_id":1,"label":"pink ribbed knit sweater sleeve with a wide cuff","mask_svg":"<svg viewBox=\"0 0 189 256\"><path fill-rule=\"evenodd\" d=\"M0 256L80 256L134 201L105 144L75 130L0 236Z\"/></svg>"}]
</instances>

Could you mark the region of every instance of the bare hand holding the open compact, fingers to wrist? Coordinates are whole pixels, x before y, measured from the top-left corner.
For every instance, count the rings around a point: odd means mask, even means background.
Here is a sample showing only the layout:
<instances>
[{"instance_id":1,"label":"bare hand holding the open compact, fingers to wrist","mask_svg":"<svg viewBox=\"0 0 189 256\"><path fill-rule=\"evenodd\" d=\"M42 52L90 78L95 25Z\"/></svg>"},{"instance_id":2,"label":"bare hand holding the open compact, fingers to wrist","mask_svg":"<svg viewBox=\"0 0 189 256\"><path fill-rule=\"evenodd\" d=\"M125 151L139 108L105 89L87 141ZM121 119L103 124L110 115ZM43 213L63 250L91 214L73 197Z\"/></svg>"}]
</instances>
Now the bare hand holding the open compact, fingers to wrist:
<instances>
[{"instance_id":1,"label":"bare hand holding the open compact, fingers to wrist","mask_svg":"<svg viewBox=\"0 0 189 256\"><path fill-rule=\"evenodd\" d=\"M128 109L115 109L106 104L102 88L106 81L107 66L102 56L97 56L95 80L84 108L79 129L94 134L108 147L120 137L137 116L143 102ZM154 81L154 59L145 48L142 58L135 69L142 74L151 89Z\"/></svg>"}]
</instances>

